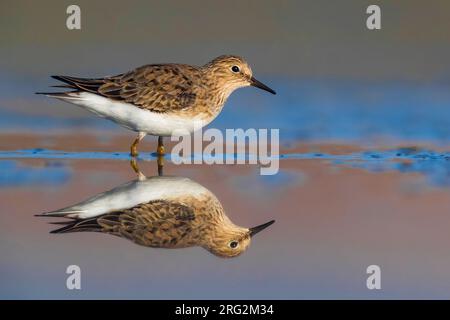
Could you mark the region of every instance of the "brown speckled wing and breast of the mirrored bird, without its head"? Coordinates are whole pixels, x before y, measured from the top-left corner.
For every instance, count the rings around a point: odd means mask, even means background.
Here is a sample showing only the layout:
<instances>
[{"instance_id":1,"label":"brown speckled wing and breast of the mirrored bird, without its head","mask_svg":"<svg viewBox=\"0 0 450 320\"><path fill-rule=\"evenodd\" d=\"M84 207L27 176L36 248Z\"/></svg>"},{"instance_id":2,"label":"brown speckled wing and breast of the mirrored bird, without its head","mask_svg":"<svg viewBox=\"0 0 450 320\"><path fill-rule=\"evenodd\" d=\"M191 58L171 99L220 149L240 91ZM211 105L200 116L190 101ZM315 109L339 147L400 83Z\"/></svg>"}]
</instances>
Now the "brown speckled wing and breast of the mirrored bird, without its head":
<instances>
[{"instance_id":1,"label":"brown speckled wing and breast of the mirrored bird, without its head","mask_svg":"<svg viewBox=\"0 0 450 320\"><path fill-rule=\"evenodd\" d=\"M223 215L220 203L210 197L156 200L76 221L57 232L96 231L148 247L184 248L202 245L201 234L219 227Z\"/></svg>"}]
</instances>

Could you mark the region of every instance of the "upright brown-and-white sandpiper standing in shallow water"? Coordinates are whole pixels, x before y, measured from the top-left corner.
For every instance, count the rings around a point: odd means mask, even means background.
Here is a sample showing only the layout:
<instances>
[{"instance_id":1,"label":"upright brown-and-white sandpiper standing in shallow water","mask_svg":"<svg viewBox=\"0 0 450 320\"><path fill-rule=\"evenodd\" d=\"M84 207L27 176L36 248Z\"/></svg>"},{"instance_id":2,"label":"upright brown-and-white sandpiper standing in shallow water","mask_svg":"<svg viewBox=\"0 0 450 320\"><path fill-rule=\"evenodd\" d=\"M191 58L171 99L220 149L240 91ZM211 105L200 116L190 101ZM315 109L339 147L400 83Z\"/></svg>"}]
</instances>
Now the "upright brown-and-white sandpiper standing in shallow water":
<instances>
[{"instance_id":1,"label":"upright brown-and-white sandpiper standing in shallow water","mask_svg":"<svg viewBox=\"0 0 450 320\"><path fill-rule=\"evenodd\" d=\"M79 105L138 132L132 156L137 155L137 145L147 134L159 136L158 154L163 154L162 137L176 130L192 132L199 129L197 124L207 125L235 89L251 85L275 94L256 80L247 62L237 56L220 56L202 67L153 64L104 78L53 78L73 91L40 94Z\"/></svg>"}]
</instances>

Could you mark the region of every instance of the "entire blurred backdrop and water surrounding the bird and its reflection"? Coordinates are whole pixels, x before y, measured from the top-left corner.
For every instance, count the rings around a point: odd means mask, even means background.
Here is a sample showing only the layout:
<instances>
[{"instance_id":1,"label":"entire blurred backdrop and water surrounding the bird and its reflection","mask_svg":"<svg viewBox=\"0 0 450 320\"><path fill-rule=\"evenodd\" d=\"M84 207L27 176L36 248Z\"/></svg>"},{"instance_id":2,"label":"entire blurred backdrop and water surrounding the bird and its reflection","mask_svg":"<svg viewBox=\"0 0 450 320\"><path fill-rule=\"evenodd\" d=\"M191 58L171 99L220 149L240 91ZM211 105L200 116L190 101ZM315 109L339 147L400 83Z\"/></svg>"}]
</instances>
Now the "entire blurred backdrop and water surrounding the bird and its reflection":
<instances>
[{"instance_id":1,"label":"entire blurred backdrop and water surrounding the bird and its reflection","mask_svg":"<svg viewBox=\"0 0 450 320\"><path fill-rule=\"evenodd\" d=\"M71 4L81 30L66 28ZM366 28L371 4L381 30ZM449 34L446 0L2 0L0 298L448 298ZM209 127L280 129L280 172L168 161L166 173L210 189L236 224L277 222L231 260L49 234L34 214L135 177L134 133L35 95L49 76L221 54L278 94L239 90ZM65 288L69 264L81 291ZM380 291L366 288L371 264Z\"/></svg>"}]
</instances>

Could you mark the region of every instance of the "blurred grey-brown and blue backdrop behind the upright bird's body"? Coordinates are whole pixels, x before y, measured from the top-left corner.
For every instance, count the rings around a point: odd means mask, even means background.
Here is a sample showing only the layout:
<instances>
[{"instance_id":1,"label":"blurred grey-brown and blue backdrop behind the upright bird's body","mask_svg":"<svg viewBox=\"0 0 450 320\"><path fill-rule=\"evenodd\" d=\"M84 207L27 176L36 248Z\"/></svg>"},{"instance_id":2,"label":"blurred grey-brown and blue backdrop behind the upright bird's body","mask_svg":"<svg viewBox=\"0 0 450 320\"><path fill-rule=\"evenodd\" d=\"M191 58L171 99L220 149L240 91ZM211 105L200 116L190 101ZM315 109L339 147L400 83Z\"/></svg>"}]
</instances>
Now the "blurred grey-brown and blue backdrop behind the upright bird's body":
<instances>
[{"instance_id":1,"label":"blurred grey-brown and blue backdrop behind the upright bird's body","mask_svg":"<svg viewBox=\"0 0 450 320\"><path fill-rule=\"evenodd\" d=\"M241 90L215 127L278 127L282 139L450 138L448 1L81 0L81 30L66 28L70 4L1 1L2 131L111 128L34 96L54 83L50 75L202 65L230 53L279 95ZM381 30L366 28L370 4L381 7Z\"/></svg>"}]
</instances>

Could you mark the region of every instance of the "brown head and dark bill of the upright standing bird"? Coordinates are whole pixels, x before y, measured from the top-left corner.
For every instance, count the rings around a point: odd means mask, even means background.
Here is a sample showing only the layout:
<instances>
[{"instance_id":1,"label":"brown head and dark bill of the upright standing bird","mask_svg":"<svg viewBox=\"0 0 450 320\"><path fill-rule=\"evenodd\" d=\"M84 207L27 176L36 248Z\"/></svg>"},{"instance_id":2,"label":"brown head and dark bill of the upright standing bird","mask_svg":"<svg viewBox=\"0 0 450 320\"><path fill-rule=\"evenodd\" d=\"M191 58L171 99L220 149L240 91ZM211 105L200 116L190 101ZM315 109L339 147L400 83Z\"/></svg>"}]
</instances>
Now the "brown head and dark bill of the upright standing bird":
<instances>
[{"instance_id":1,"label":"brown head and dark bill of the upright standing bird","mask_svg":"<svg viewBox=\"0 0 450 320\"><path fill-rule=\"evenodd\" d=\"M252 69L241 57L220 56L204 65L203 69L209 76L208 79L215 81L216 85L228 94L246 86L254 86L276 94L274 90L253 77Z\"/></svg>"}]
</instances>

